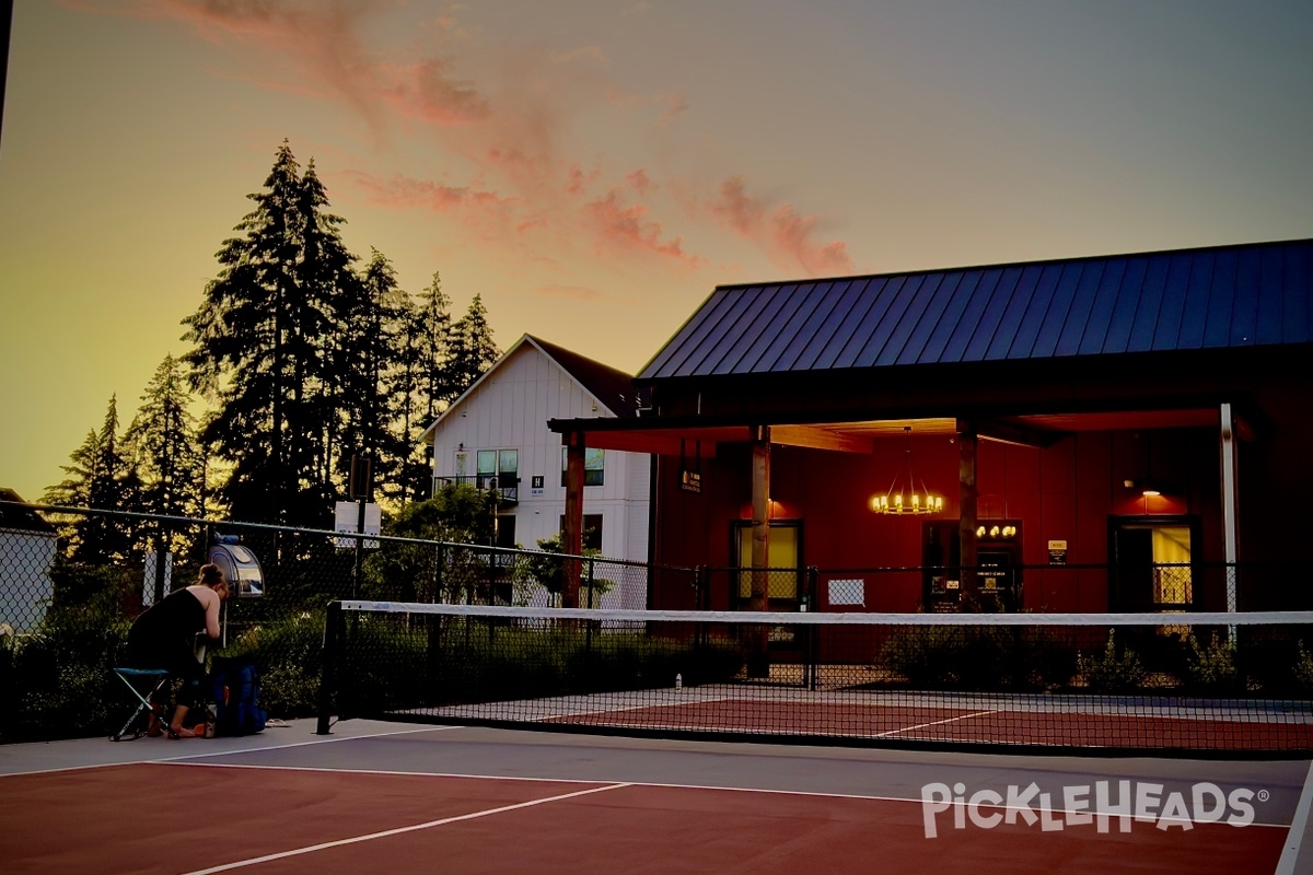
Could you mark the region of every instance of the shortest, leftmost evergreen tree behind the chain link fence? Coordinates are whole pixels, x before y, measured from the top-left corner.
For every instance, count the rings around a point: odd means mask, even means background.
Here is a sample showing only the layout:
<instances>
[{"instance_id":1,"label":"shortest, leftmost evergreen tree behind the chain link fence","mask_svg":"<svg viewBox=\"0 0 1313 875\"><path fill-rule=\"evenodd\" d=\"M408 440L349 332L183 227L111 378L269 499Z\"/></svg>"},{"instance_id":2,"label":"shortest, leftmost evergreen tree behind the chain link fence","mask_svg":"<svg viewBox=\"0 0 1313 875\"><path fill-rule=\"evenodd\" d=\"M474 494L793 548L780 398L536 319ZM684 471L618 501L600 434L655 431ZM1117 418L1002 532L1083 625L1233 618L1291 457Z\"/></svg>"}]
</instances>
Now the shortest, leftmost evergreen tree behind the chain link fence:
<instances>
[{"instance_id":1,"label":"shortest, leftmost evergreen tree behind the chain link fence","mask_svg":"<svg viewBox=\"0 0 1313 875\"><path fill-rule=\"evenodd\" d=\"M110 396L100 432L91 432L63 466L64 480L46 489L42 501L66 508L135 510L140 483L131 462L119 451L118 397ZM134 523L125 517L79 514L66 517L70 559L108 563L127 558Z\"/></svg>"}]
</instances>

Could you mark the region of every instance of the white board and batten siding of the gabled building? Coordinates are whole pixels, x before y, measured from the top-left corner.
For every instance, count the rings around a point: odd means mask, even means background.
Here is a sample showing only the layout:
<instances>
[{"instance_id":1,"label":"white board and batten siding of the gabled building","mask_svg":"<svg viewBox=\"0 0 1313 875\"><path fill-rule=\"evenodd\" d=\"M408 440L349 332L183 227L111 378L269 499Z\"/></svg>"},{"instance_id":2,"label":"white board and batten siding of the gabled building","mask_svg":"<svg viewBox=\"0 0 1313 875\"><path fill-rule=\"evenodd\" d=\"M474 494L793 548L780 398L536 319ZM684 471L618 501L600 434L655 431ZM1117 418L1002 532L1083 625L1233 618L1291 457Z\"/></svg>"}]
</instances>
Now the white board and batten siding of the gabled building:
<instances>
[{"instance_id":1,"label":"white board and batten siding of the gabled building","mask_svg":"<svg viewBox=\"0 0 1313 875\"><path fill-rule=\"evenodd\" d=\"M532 550L559 533L566 505L561 436L548 429L548 420L609 416L574 376L521 338L431 428L435 484L457 475L461 451L473 475L478 450L517 450L519 504L503 517L515 517L516 542ZM647 561L650 464L646 454L607 450L603 484L584 487L584 514L603 514L603 556ZM533 488L536 476L542 478L541 489Z\"/></svg>"}]
</instances>

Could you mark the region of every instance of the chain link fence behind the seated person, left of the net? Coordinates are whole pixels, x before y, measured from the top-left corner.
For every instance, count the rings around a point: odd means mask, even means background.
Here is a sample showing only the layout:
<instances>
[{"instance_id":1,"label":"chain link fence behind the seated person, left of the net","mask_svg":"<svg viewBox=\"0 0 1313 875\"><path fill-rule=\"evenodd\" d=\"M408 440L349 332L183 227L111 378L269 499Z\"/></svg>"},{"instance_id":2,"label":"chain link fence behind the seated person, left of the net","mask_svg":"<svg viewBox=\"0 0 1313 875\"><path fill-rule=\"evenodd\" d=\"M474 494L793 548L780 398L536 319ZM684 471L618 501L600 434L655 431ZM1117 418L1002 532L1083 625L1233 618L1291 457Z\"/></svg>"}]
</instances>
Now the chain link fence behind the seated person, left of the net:
<instances>
[{"instance_id":1,"label":"chain link fence behind the seated person, left of the net","mask_svg":"<svg viewBox=\"0 0 1313 875\"><path fill-rule=\"evenodd\" d=\"M251 660L261 704L284 719L314 714L335 600L555 606L576 571L580 606L645 609L654 579L695 576L389 535L4 501L0 512L0 743L108 733L129 707L110 669L133 621L207 561L235 582L210 653Z\"/></svg>"}]
</instances>

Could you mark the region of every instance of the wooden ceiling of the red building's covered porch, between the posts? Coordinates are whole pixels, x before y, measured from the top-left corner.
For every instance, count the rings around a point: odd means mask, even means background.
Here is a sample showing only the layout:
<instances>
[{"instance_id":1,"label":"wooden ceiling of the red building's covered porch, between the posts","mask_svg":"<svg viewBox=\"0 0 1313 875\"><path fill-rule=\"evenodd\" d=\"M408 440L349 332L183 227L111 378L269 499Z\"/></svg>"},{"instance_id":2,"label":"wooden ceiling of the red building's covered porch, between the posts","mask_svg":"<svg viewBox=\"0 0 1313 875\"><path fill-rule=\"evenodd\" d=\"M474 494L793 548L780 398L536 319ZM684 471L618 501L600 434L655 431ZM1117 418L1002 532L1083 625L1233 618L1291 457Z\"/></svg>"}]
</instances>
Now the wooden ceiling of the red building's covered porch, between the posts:
<instances>
[{"instance_id":1,"label":"wooden ceiling of the red building's covered porch, between the posts","mask_svg":"<svg viewBox=\"0 0 1313 875\"><path fill-rule=\"evenodd\" d=\"M667 420L554 420L553 430L583 432L584 442L603 450L659 453L692 458L716 455L718 443L751 439L746 424L706 424L695 417ZM1073 432L1119 432L1134 429L1217 428L1213 408L1169 411L1117 411L1098 413L1049 413L983 420L976 424L981 439L1048 446ZM880 438L913 434L956 434L957 420L895 418L853 422L771 424L771 441L783 446L804 446L840 453L873 453ZM1243 433L1245 429L1242 429ZM1243 436L1243 434L1242 434Z\"/></svg>"}]
</instances>

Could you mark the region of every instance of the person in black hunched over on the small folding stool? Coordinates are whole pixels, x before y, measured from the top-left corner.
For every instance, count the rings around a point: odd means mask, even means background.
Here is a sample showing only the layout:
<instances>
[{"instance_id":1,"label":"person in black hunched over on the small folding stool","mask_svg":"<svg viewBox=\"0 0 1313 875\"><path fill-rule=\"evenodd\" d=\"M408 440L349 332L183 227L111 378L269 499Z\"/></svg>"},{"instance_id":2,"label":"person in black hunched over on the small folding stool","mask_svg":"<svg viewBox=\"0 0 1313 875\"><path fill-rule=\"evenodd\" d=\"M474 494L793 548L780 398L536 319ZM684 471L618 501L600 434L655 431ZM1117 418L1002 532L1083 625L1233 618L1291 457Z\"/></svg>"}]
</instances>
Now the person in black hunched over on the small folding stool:
<instances>
[{"instance_id":1,"label":"person in black hunched over on the small folding stool","mask_svg":"<svg viewBox=\"0 0 1313 875\"><path fill-rule=\"evenodd\" d=\"M219 605L228 597L228 584L218 565L201 565L196 584L176 589L133 622L127 632L127 664L133 668L167 669L183 681L169 720L171 739L194 737L186 714L201 703L205 661L197 656L197 636L219 638ZM152 718L152 727L155 725Z\"/></svg>"}]
</instances>

